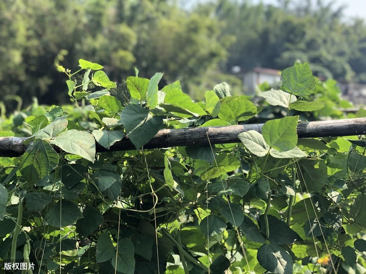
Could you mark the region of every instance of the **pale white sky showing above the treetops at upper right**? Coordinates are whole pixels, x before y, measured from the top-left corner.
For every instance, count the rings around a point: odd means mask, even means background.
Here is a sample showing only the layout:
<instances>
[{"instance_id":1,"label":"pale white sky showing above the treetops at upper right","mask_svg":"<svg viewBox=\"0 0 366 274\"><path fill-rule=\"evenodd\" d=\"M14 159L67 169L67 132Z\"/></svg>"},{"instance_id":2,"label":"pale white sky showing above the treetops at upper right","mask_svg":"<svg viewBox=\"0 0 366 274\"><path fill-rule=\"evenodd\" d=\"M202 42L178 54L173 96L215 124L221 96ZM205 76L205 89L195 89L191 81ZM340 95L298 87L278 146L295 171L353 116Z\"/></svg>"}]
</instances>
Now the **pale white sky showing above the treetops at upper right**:
<instances>
[{"instance_id":1,"label":"pale white sky showing above the treetops at upper right","mask_svg":"<svg viewBox=\"0 0 366 274\"><path fill-rule=\"evenodd\" d=\"M277 0L253 0L254 3L262 1L264 4L277 4ZM313 0L315 2L315 0ZM329 3L328 1L324 1ZM366 0L335 0L335 6L346 5L344 14L348 17L360 17L366 21Z\"/></svg>"}]
</instances>

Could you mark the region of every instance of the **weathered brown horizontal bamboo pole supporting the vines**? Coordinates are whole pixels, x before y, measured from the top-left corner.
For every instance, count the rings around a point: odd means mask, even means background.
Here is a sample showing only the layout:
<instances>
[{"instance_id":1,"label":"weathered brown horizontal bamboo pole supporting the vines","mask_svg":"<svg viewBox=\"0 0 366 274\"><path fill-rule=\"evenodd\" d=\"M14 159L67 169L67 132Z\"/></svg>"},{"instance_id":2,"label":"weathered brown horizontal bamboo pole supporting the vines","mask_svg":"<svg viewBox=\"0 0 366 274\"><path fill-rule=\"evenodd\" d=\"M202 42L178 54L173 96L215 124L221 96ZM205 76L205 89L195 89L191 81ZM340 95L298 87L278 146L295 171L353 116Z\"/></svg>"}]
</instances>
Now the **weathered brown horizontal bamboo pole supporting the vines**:
<instances>
[{"instance_id":1,"label":"weathered brown horizontal bamboo pole supporting the vines","mask_svg":"<svg viewBox=\"0 0 366 274\"><path fill-rule=\"evenodd\" d=\"M162 129L143 147L167 148L187 145L214 145L240 142L238 134L248 130L262 132L263 124L193 127L186 129ZM332 121L300 122L297 127L299 138L337 137L366 134L366 118L342 119ZM0 137L0 156L14 157L22 155L27 146L23 145L26 137ZM116 142L109 151L135 149L130 139L125 136ZM97 152L108 151L96 144Z\"/></svg>"}]
</instances>

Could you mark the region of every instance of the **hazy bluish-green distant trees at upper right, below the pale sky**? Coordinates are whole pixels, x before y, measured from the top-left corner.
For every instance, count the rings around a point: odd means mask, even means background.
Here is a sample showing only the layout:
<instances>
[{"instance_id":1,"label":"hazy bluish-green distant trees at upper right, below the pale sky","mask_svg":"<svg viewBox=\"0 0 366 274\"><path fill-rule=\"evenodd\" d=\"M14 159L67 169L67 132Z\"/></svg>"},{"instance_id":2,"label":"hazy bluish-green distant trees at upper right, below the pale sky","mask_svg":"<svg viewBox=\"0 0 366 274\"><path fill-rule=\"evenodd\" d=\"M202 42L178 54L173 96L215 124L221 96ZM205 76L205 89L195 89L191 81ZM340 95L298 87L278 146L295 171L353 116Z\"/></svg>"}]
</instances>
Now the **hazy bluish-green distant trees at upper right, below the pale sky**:
<instances>
[{"instance_id":1,"label":"hazy bluish-green distant trees at upper right, below the pale sky","mask_svg":"<svg viewBox=\"0 0 366 274\"><path fill-rule=\"evenodd\" d=\"M277 7L232 0L211 4L226 22L223 32L237 38L230 48L228 71L232 66L281 70L300 59L310 62L319 76L366 81L364 22L346 21L343 7L334 2L279 2Z\"/></svg>"}]
</instances>

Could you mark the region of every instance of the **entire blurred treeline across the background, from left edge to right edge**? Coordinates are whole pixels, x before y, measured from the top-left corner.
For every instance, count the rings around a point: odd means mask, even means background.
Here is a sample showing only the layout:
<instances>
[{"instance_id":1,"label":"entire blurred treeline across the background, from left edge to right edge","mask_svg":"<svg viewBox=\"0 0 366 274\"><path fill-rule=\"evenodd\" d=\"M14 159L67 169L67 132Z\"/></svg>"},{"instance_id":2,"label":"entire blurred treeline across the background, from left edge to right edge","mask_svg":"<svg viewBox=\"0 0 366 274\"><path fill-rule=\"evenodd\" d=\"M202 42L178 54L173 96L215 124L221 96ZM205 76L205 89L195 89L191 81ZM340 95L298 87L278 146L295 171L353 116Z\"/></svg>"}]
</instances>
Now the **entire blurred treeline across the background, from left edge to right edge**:
<instances>
[{"instance_id":1,"label":"entire blurred treeline across the background, from left edge to right edge","mask_svg":"<svg viewBox=\"0 0 366 274\"><path fill-rule=\"evenodd\" d=\"M146 78L164 72L163 85L180 79L197 99L222 81L243 92L233 66L284 69L297 59L317 75L366 83L366 25L336 4L183 2L0 1L0 100L66 102L55 64L75 70L79 58L104 65L116 82L134 67Z\"/></svg>"}]
</instances>

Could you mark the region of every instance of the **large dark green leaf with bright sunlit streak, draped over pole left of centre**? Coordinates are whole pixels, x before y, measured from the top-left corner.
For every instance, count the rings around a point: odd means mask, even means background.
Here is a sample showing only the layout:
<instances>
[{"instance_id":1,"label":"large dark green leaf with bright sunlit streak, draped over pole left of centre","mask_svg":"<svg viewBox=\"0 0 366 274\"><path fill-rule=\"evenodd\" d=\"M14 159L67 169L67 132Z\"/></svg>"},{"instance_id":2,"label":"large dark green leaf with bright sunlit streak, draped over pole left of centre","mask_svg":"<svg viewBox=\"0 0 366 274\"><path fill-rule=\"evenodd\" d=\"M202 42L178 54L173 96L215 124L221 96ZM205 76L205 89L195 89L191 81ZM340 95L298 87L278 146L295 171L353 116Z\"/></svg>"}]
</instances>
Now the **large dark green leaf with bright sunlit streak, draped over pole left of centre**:
<instances>
[{"instance_id":1,"label":"large dark green leaf with bright sunlit streak, draped over pole left of centre","mask_svg":"<svg viewBox=\"0 0 366 274\"><path fill-rule=\"evenodd\" d=\"M163 126L163 119L153 116L139 105L128 105L121 113L121 121L127 136L136 149L141 148L155 136Z\"/></svg>"}]
</instances>

